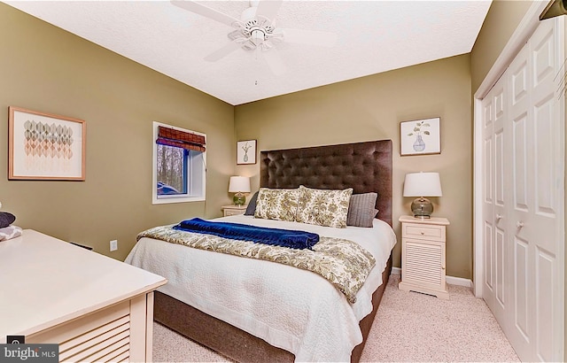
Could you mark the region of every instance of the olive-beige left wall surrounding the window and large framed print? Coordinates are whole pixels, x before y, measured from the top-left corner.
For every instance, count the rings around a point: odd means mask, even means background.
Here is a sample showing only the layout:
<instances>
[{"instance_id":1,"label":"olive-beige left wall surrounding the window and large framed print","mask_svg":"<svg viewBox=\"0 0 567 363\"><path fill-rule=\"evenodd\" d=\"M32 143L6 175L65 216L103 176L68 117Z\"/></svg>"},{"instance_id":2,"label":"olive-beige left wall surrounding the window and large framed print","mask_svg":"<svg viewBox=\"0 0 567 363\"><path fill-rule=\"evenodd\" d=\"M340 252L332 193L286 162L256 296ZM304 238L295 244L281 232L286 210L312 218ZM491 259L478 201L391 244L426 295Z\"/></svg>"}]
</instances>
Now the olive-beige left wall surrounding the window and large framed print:
<instances>
[{"instance_id":1,"label":"olive-beige left wall surrounding the window and large framed print","mask_svg":"<svg viewBox=\"0 0 567 363\"><path fill-rule=\"evenodd\" d=\"M0 170L7 170L8 106L87 125L85 182L0 178L2 210L16 215L16 225L124 259L144 228L220 216L236 158L232 105L6 4L0 44ZM206 133L206 203L151 205L153 120Z\"/></svg>"}]
</instances>

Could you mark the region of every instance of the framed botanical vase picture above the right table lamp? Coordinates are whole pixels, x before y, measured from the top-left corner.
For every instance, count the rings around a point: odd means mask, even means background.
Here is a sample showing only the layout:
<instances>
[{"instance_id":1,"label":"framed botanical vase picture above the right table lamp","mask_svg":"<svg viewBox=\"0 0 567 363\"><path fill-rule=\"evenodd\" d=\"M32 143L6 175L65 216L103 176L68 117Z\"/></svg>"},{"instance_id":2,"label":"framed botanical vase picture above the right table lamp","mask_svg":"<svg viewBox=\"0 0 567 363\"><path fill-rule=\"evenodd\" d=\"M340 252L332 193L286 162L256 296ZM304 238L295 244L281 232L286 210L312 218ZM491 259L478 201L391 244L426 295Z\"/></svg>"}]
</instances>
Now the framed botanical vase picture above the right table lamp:
<instances>
[{"instance_id":1,"label":"framed botanical vase picture above the right table lamp","mask_svg":"<svg viewBox=\"0 0 567 363\"><path fill-rule=\"evenodd\" d=\"M400 122L400 155L441 153L440 118Z\"/></svg>"}]
</instances>

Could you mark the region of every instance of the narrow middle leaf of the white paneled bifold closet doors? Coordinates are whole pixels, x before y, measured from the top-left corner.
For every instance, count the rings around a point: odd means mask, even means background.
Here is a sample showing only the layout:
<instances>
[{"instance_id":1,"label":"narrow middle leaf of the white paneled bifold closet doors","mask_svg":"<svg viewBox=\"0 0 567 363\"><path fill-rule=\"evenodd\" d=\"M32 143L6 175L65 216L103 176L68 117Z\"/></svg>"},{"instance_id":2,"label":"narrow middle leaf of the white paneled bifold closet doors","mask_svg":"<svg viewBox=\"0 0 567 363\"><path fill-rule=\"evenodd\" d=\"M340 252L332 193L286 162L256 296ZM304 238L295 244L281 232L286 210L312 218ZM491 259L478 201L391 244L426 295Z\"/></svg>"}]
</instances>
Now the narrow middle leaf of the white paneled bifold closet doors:
<instances>
[{"instance_id":1,"label":"narrow middle leaf of the white paneled bifold closet doors","mask_svg":"<svg viewBox=\"0 0 567 363\"><path fill-rule=\"evenodd\" d=\"M524 214L529 213L532 206L532 188L529 179L532 173L532 114L530 109L530 92L532 88L532 72L528 65L529 45L526 44L509 66L507 80L510 87L510 120L507 135L510 139L509 164L512 173L509 175L509 189L512 192L511 210L508 215L507 228L510 231L509 272L512 281L509 284L509 296L514 302L511 306L508 326L505 329L509 341L520 359L532 359L532 310L530 297L532 290L532 263L529 258L531 238L525 236L527 228L517 228L519 220L527 220Z\"/></svg>"}]
</instances>

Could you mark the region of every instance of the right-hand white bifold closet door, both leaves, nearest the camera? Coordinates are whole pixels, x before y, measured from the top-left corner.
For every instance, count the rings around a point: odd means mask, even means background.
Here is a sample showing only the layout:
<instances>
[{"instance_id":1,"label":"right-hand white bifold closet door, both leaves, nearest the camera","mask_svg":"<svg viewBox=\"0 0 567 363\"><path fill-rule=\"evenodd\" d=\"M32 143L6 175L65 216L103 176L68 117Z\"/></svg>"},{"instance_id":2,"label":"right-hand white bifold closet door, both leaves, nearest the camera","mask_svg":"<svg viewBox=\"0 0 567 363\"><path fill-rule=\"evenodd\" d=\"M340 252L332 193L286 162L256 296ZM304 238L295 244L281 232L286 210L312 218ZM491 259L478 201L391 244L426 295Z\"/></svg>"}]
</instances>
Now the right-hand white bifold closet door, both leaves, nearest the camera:
<instances>
[{"instance_id":1,"label":"right-hand white bifold closet door, both leaves, nearest the camera","mask_svg":"<svg viewBox=\"0 0 567 363\"><path fill-rule=\"evenodd\" d=\"M543 21L510 66L514 300L510 341L523 360L563 360L563 97L555 75L563 66L563 37ZM561 184L561 185L560 185ZM563 261L563 256L560 259ZM563 310L563 307L561 308ZM561 341L559 341L561 337ZM561 345L560 345L561 344Z\"/></svg>"}]
</instances>

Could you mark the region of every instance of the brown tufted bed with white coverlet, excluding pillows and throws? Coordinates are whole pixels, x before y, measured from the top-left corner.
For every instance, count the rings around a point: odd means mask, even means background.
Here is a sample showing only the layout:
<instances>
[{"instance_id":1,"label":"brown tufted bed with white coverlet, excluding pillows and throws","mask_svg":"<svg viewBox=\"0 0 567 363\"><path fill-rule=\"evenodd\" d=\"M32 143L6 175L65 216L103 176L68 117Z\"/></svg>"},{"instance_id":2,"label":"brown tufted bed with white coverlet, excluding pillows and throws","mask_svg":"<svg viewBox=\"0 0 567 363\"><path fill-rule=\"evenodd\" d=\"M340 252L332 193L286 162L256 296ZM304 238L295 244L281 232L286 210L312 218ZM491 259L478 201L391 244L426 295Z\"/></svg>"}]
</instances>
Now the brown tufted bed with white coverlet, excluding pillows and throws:
<instances>
[{"instance_id":1,"label":"brown tufted bed with white coverlet, excluding pillows and throws","mask_svg":"<svg viewBox=\"0 0 567 363\"><path fill-rule=\"evenodd\" d=\"M346 301L321 276L299 268L143 237L126 261L167 277L167 285L156 291L155 321L242 362L359 361L392 270L392 141L261 151L261 188L299 186L352 188L353 195L378 194L379 212L372 228L307 224L302 228L321 236L333 229L329 233L367 243L369 249L376 250L373 255L383 255L375 256L376 266L356 294L355 303ZM245 215L218 220L290 229L301 224ZM379 248L367 241L377 238L376 233L387 240ZM225 281L230 271L246 269L260 277L248 272L251 275L244 274L237 281ZM268 283L266 279L272 275L280 280ZM316 293L306 294L305 289ZM225 298L212 296L219 293ZM292 297L298 294L309 297L296 303ZM276 322L266 322L268 318Z\"/></svg>"}]
</instances>

